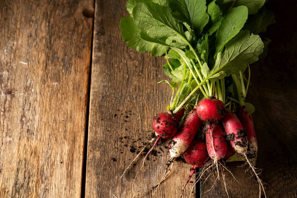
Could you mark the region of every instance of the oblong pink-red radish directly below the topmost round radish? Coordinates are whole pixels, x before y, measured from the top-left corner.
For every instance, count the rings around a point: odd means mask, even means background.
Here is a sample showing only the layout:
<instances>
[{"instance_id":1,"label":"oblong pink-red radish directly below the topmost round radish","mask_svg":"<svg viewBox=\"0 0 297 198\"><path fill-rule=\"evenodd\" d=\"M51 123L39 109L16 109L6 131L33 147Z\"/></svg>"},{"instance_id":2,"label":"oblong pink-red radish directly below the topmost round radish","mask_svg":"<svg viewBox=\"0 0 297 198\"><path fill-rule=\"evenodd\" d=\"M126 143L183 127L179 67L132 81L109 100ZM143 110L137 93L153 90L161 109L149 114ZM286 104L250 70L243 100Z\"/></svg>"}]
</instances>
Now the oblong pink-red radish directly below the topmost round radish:
<instances>
[{"instance_id":1,"label":"oblong pink-red radish directly below the topmost round radish","mask_svg":"<svg viewBox=\"0 0 297 198\"><path fill-rule=\"evenodd\" d=\"M206 128L206 146L211 159L219 161L225 157L228 147L224 132L217 123L209 123Z\"/></svg>"}]
</instances>

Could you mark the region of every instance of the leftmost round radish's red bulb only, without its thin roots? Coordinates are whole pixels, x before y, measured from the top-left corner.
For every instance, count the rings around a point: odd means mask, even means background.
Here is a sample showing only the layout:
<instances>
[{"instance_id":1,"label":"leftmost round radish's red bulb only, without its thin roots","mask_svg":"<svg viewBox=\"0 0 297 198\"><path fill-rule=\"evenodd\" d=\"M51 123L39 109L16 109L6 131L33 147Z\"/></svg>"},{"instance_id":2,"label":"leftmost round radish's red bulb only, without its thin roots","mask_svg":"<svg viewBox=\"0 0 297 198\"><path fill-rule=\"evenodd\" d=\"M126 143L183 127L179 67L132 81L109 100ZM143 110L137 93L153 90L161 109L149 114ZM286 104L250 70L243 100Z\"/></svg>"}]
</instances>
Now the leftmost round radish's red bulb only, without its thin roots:
<instances>
[{"instance_id":1,"label":"leftmost round radish's red bulb only, without its thin roots","mask_svg":"<svg viewBox=\"0 0 297 198\"><path fill-rule=\"evenodd\" d=\"M171 113L159 113L154 117L153 129L161 137L173 137L178 129L178 122Z\"/></svg>"}]
</instances>

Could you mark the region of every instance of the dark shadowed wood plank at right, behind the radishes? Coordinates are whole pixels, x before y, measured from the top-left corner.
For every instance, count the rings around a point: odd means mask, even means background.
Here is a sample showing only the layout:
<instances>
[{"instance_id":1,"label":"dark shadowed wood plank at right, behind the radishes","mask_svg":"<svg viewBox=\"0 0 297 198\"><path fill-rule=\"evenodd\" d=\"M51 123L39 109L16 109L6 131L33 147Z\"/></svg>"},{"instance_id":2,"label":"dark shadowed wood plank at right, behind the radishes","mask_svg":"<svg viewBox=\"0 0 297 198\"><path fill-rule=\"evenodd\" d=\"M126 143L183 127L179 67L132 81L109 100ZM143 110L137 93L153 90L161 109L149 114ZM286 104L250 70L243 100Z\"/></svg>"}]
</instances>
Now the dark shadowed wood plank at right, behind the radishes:
<instances>
[{"instance_id":1,"label":"dark shadowed wood plank at right, behind the radishes","mask_svg":"<svg viewBox=\"0 0 297 198\"><path fill-rule=\"evenodd\" d=\"M267 197L296 197L297 167L297 23L287 20L295 12L296 1L269 1L269 9L277 23L268 27L261 37L272 40L268 56L251 66L251 86L247 102L255 106L252 114L259 144L257 167L263 168L261 178L267 183ZM282 30L281 32L279 30ZM231 182L227 173L226 183L230 197L258 197L258 186L251 174L245 172L243 163L227 164L239 184ZM214 188L208 180L201 190L201 197L227 197L222 180Z\"/></svg>"}]
</instances>

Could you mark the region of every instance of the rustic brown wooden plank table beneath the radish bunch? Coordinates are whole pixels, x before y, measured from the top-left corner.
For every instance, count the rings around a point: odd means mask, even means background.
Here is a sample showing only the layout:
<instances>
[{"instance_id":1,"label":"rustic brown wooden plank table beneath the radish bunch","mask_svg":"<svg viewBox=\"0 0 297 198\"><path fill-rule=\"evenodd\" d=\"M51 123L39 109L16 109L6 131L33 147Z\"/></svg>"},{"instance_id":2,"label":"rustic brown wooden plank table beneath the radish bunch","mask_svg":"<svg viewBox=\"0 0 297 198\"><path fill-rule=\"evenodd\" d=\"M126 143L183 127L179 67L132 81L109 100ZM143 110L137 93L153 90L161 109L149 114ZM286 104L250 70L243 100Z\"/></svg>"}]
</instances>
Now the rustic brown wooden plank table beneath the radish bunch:
<instances>
[{"instance_id":1,"label":"rustic brown wooden plank table beneath the radish bunch","mask_svg":"<svg viewBox=\"0 0 297 198\"><path fill-rule=\"evenodd\" d=\"M167 79L164 58L140 54L121 39L125 3L0 1L0 197L131 197L162 176L166 142L133 187L140 161L119 180L150 139L152 116L167 106L127 94L170 93L156 84ZM268 197L296 197L296 2L271 0L269 7L277 23L262 37L273 42L252 65L248 94L256 107L257 166ZM120 93L126 101L113 101ZM255 180L240 165L228 165L240 182L227 173L230 197L257 197ZM189 168L178 161L157 197L178 197ZM213 183L210 177L191 197L226 197L221 180L204 193Z\"/></svg>"}]
</instances>

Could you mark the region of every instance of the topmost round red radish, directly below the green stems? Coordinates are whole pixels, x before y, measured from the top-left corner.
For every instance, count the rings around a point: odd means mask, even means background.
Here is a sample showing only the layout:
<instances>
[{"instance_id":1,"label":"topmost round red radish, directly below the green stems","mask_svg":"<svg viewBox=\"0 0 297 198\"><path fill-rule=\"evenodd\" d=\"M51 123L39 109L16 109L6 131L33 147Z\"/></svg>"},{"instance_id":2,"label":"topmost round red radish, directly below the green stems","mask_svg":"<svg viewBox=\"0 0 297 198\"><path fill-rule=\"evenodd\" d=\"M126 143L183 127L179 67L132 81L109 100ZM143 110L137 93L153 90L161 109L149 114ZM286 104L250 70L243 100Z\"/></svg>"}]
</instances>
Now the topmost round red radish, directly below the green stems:
<instances>
[{"instance_id":1,"label":"topmost round red radish, directly below the green stems","mask_svg":"<svg viewBox=\"0 0 297 198\"><path fill-rule=\"evenodd\" d=\"M225 105L219 99L206 98L197 104L197 114L203 121L218 121L224 117L225 111Z\"/></svg>"}]
</instances>

